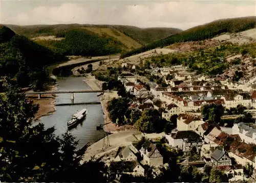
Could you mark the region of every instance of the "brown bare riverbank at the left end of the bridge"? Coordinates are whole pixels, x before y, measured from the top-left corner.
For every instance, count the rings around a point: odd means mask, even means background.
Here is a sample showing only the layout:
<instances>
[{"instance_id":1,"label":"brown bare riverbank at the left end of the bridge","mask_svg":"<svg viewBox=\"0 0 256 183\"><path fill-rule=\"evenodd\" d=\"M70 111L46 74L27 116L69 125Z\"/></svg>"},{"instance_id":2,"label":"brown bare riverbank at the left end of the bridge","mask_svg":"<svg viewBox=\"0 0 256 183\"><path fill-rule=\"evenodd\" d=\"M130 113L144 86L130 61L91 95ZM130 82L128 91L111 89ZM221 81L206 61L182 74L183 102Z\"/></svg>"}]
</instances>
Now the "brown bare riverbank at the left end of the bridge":
<instances>
[{"instance_id":1,"label":"brown bare riverbank at the left end of the bridge","mask_svg":"<svg viewBox=\"0 0 256 183\"><path fill-rule=\"evenodd\" d=\"M57 90L55 85L48 86L49 90ZM38 99L38 95L27 96L28 100L33 101L35 104L39 104L39 110L35 114L34 120L40 119L42 116L47 116L56 111L55 109L55 94L44 94Z\"/></svg>"}]
</instances>

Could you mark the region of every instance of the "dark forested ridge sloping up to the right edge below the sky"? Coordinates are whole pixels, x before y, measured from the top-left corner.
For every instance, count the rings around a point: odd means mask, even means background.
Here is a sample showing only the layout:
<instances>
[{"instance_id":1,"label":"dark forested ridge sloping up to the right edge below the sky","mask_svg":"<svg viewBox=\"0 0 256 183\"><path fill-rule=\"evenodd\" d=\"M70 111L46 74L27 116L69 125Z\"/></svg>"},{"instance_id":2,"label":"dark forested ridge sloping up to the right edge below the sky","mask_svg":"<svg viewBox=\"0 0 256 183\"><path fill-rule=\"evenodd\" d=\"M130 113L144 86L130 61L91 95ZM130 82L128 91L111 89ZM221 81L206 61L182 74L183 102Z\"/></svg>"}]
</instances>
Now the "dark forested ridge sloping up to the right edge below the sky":
<instances>
[{"instance_id":1,"label":"dark forested ridge sloping up to the right edge below the sky","mask_svg":"<svg viewBox=\"0 0 256 183\"><path fill-rule=\"evenodd\" d=\"M220 19L220 20L212 21L210 23L206 23L206 24L188 29L179 34L166 37L152 44L148 44L146 46L128 51L126 53L123 53L121 55L121 58L139 54L144 51L154 49L156 47L168 46L176 42L200 41L200 40L215 37L222 33L236 33L240 31L245 31L248 29L255 28L255 25L256 25L255 16Z\"/></svg>"}]
</instances>

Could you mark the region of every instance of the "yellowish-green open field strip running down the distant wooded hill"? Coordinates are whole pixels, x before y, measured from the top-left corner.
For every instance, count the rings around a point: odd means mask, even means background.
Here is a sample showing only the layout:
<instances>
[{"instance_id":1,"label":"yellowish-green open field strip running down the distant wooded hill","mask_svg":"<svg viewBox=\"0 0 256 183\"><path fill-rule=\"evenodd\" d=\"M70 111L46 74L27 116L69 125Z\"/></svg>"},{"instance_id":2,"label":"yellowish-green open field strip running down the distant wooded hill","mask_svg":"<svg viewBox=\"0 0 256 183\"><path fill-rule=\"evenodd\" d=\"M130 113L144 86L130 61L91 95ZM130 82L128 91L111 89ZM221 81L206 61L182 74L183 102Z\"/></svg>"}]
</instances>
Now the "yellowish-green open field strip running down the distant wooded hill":
<instances>
[{"instance_id":1,"label":"yellowish-green open field strip running down the distant wooded hill","mask_svg":"<svg viewBox=\"0 0 256 183\"><path fill-rule=\"evenodd\" d=\"M87 29L88 31L94 32L96 34L99 34L100 36L103 36L104 34L112 36L119 40L121 43L123 43L127 48L129 49L135 49L141 46L140 43L137 41L133 40L132 38L124 35L123 33L116 31L114 29L110 28L93 28L93 27L88 27L88 28L83 28Z\"/></svg>"}]
</instances>

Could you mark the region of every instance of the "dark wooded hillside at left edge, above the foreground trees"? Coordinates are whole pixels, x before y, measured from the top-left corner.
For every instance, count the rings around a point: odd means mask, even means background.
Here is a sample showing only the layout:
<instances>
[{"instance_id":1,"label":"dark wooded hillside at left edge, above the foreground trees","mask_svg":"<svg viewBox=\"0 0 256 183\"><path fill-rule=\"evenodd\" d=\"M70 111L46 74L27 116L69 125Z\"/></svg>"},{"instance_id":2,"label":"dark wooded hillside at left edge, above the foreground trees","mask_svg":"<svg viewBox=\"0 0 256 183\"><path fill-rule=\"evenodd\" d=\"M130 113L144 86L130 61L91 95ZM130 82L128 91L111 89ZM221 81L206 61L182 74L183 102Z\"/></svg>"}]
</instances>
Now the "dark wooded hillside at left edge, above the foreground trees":
<instances>
[{"instance_id":1,"label":"dark wooded hillside at left edge, above the foreground trees","mask_svg":"<svg viewBox=\"0 0 256 183\"><path fill-rule=\"evenodd\" d=\"M0 28L0 76L15 79L19 87L32 85L41 88L47 80L44 66L64 60L65 57L9 28Z\"/></svg>"}]
</instances>

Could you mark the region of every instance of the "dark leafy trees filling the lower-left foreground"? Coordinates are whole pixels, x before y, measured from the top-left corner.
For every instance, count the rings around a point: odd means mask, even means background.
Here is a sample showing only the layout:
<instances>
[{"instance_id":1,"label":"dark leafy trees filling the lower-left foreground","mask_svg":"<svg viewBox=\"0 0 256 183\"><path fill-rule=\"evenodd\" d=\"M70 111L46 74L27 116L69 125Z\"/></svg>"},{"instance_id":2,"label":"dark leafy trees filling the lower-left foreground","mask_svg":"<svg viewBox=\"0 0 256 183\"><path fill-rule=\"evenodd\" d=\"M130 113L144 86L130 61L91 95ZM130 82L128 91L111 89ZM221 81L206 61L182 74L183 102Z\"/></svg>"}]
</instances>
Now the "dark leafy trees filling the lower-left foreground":
<instances>
[{"instance_id":1,"label":"dark leafy trees filling the lower-left foreground","mask_svg":"<svg viewBox=\"0 0 256 183\"><path fill-rule=\"evenodd\" d=\"M80 165L78 141L68 132L56 137L54 127L31 125L38 106L7 81L0 95L0 177L5 182L107 182L99 161Z\"/></svg>"}]
</instances>

